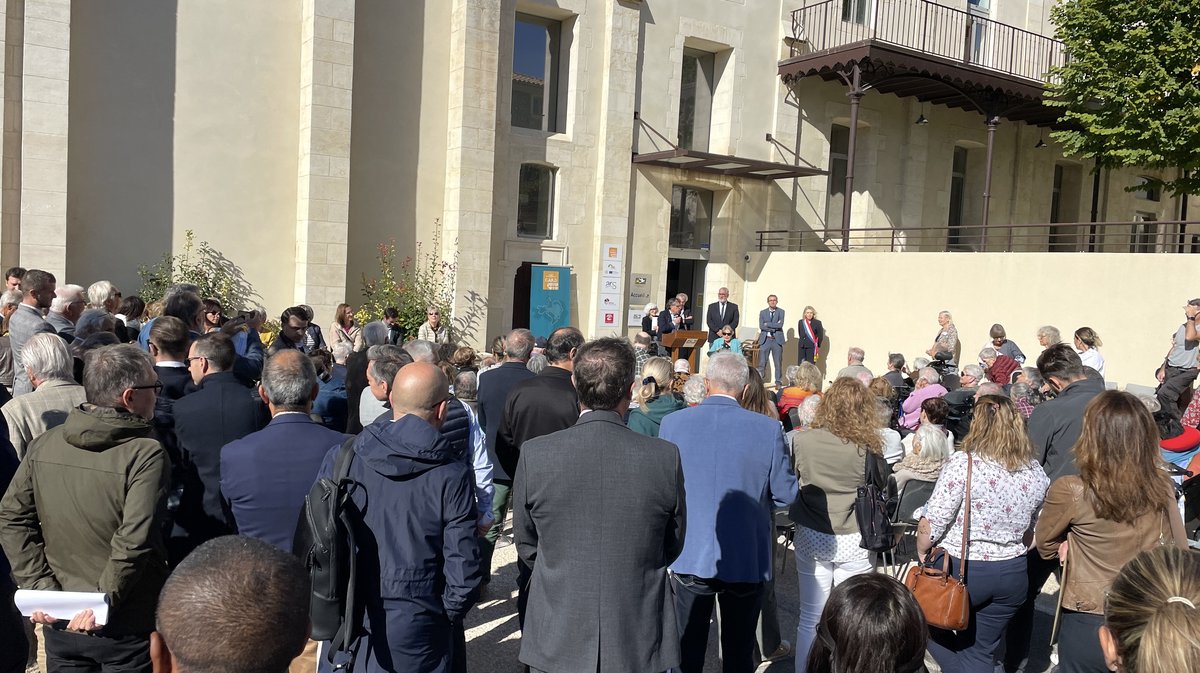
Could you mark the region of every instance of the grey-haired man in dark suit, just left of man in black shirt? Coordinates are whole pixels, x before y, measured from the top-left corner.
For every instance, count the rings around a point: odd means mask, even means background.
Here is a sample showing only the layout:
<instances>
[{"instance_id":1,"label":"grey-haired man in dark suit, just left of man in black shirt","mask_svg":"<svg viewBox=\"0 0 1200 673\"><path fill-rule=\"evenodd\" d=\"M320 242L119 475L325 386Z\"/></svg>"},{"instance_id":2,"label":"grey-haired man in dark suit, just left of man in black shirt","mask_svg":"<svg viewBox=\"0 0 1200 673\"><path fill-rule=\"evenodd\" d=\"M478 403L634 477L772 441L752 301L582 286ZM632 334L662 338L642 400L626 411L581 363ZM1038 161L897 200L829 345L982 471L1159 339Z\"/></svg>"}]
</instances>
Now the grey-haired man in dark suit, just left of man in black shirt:
<instances>
[{"instance_id":1,"label":"grey-haired man in dark suit, just left of man in black shirt","mask_svg":"<svg viewBox=\"0 0 1200 673\"><path fill-rule=\"evenodd\" d=\"M504 420L504 402L509 392L521 381L532 379L534 373L526 365L533 353L533 332L517 328L504 339L504 362L494 369L479 375L479 425L484 428L484 440L487 444L487 457L492 461L492 527L479 539L479 566L484 572L484 583L492 577L492 553L496 541L504 530L504 516L509 511L509 493L512 492L512 475L504 471L496 458L496 435Z\"/></svg>"}]
</instances>

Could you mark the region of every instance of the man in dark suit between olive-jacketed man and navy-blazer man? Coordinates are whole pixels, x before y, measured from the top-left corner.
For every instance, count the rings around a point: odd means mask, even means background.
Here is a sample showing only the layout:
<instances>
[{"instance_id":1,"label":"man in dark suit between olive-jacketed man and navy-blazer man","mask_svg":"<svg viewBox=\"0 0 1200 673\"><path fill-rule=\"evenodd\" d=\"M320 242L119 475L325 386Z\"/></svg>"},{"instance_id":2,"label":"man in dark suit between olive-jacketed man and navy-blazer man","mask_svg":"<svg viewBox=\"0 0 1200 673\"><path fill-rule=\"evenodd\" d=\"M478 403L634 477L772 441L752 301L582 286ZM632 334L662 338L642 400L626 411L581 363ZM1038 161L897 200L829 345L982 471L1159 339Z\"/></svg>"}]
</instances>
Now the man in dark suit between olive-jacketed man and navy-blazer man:
<instances>
[{"instance_id":1,"label":"man in dark suit between olive-jacketed man and navy-blazer man","mask_svg":"<svg viewBox=\"0 0 1200 673\"><path fill-rule=\"evenodd\" d=\"M199 390L175 401L184 492L168 552L174 565L197 545L234 531L221 499L221 449L266 425L266 407L233 373L233 339L221 332L192 343L187 368Z\"/></svg>"}]
</instances>

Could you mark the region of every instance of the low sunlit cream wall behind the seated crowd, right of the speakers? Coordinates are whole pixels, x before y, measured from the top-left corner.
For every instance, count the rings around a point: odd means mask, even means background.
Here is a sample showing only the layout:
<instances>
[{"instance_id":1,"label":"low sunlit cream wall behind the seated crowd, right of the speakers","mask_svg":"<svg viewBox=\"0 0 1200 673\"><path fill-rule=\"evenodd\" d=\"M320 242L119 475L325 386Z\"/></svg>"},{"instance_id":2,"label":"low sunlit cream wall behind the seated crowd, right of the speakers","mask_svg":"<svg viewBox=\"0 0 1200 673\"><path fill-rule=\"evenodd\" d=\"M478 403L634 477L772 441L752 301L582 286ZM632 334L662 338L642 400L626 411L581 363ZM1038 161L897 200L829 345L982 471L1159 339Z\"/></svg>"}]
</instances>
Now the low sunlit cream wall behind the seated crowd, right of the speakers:
<instances>
[{"instance_id":1,"label":"low sunlit cream wall behind the seated crowd, right of the speakers","mask_svg":"<svg viewBox=\"0 0 1200 673\"><path fill-rule=\"evenodd\" d=\"M1090 326L1104 341L1109 381L1152 385L1183 320L1181 307L1196 293L1150 293L1146 283L1187 277L1194 266L1177 254L750 253L745 292L731 300L756 335L767 295L779 296L788 320L785 367L796 363L802 310L816 307L829 339L827 379L845 366L852 345L866 350L865 365L876 374L886 371L888 353L908 361L924 355L944 310L959 329L960 363L978 361L992 323L1004 325L1030 363L1042 351L1039 326L1058 328L1068 342Z\"/></svg>"}]
</instances>

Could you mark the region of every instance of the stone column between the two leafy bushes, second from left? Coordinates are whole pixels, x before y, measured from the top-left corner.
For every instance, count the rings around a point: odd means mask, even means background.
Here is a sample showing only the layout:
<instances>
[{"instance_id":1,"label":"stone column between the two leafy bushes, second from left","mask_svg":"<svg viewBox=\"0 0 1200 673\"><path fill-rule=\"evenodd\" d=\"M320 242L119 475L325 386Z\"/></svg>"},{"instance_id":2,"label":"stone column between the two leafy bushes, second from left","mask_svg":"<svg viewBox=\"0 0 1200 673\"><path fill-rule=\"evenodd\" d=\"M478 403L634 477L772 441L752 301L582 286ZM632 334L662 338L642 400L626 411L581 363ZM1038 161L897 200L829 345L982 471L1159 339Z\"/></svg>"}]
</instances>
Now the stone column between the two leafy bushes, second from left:
<instances>
[{"instance_id":1,"label":"stone column between the two leafy bushes, second from left","mask_svg":"<svg viewBox=\"0 0 1200 673\"><path fill-rule=\"evenodd\" d=\"M295 301L320 324L347 295L354 0L304 0Z\"/></svg>"}]
</instances>

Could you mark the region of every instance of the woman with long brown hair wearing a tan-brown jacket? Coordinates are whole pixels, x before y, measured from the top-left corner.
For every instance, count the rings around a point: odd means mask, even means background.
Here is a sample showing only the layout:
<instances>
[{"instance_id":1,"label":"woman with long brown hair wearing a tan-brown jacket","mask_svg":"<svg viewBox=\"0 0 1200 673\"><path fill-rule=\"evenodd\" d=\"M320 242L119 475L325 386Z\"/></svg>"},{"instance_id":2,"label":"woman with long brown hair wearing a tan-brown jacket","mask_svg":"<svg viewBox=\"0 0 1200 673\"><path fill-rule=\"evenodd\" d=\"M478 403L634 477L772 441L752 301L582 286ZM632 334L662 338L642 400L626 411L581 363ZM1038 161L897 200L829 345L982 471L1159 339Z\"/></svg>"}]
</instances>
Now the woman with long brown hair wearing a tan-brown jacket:
<instances>
[{"instance_id":1,"label":"woman with long brown hair wearing a tan-brown jacket","mask_svg":"<svg viewBox=\"0 0 1200 673\"><path fill-rule=\"evenodd\" d=\"M1038 552L1067 566L1058 666L1108 671L1098 629L1104 593L1121 566L1160 543L1187 547L1175 486L1160 468L1158 427L1146 405L1109 390L1084 411L1074 446L1079 475L1055 480L1038 518Z\"/></svg>"}]
</instances>

